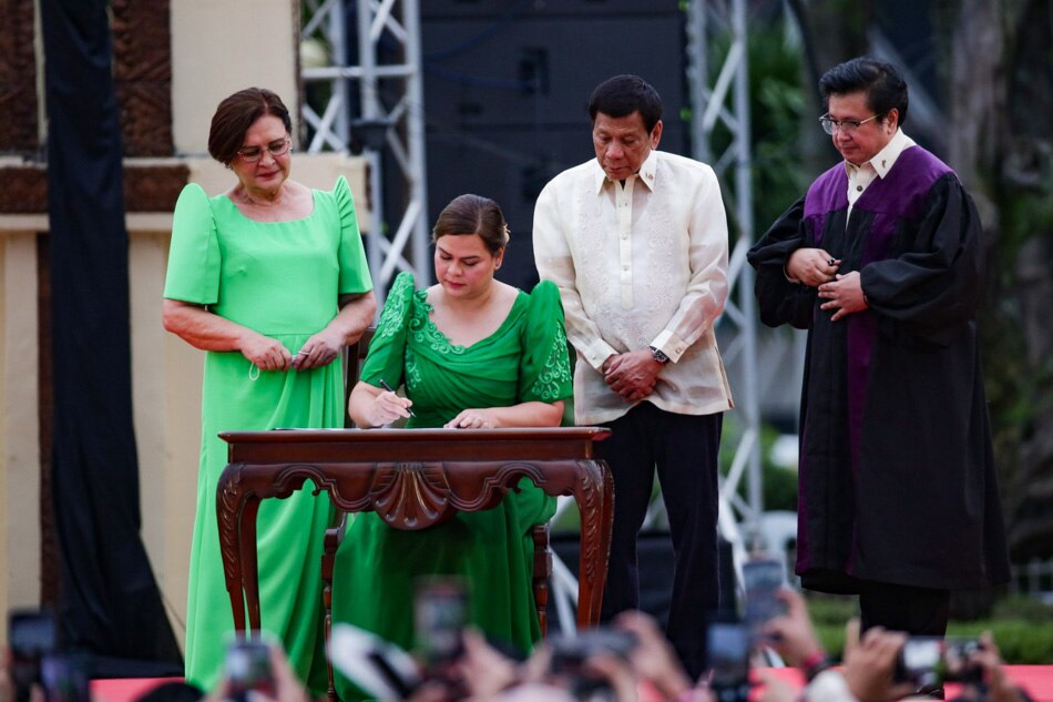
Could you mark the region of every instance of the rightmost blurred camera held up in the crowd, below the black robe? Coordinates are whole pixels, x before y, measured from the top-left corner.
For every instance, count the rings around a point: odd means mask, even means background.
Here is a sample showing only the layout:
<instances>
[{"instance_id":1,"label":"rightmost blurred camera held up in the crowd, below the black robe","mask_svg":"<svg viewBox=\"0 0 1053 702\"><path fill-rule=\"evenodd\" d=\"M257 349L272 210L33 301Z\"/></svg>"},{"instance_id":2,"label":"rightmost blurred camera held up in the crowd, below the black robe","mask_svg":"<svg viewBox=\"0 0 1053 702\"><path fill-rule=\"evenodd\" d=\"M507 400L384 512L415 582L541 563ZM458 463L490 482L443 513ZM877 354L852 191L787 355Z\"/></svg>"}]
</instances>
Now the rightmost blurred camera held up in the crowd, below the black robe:
<instances>
[{"instance_id":1,"label":"rightmost blurred camera held up in the crowd, below the black robe","mask_svg":"<svg viewBox=\"0 0 1053 702\"><path fill-rule=\"evenodd\" d=\"M911 637L896 665L896 680L920 688L944 682L979 683L983 668L973 655L982 648L978 639Z\"/></svg>"}]
</instances>

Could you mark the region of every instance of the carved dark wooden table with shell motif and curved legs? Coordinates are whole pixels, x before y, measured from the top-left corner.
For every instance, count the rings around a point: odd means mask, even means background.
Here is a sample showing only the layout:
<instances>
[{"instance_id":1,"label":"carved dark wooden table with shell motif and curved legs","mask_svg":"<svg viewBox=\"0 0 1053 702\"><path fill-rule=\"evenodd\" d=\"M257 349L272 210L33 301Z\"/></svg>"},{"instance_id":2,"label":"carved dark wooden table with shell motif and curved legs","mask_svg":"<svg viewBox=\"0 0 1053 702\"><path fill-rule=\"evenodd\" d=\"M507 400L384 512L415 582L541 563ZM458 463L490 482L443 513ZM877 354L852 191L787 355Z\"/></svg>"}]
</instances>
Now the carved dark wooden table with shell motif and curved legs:
<instances>
[{"instance_id":1,"label":"carved dark wooden table with shell motif and curved legs","mask_svg":"<svg viewBox=\"0 0 1053 702\"><path fill-rule=\"evenodd\" d=\"M256 513L314 480L344 511L376 511L397 529L425 529L456 511L494 507L521 477L581 511L577 625L600 621L611 550L614 487L593 441L599 427L530 429L293 429L225 431L219 550L234 627L259 630ZM318 535L321 538L321 535Z\"/></svg>"}]
</instances>

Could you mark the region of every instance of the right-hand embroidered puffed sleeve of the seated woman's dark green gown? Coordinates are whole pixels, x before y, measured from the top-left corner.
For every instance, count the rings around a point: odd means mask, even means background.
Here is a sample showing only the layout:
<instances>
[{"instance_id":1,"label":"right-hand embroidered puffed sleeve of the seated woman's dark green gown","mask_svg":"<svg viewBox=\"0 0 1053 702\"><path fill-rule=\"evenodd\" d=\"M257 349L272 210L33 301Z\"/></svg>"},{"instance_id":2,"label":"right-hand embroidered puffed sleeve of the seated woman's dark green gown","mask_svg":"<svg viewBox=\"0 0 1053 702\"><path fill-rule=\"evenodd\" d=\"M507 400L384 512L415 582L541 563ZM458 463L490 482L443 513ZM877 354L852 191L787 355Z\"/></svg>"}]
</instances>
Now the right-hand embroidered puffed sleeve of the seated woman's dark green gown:
<instances>
[{"instance_id":1,"label":"right-hand embroidered puffed sleeve of the seated woman's dark green gown","mask_svg":"<svg viewBox=\"0 0 1053 702\"><path fill-rule=\"evenodd\" d=\"M560 291L542 281L530 294L522 327L519 400L554 403L573 395Z\"/></svg>"}]
</instances>

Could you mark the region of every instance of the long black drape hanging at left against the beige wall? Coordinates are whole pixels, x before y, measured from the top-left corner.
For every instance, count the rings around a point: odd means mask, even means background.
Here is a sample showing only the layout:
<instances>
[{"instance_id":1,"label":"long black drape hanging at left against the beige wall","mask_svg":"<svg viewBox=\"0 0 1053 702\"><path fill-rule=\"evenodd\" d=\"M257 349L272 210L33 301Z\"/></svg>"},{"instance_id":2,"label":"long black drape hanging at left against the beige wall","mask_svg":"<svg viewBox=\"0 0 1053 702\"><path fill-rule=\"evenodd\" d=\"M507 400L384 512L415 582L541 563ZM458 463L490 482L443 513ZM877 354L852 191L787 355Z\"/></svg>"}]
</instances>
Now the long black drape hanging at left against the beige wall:
<instances>
[{"instance_id":1,"label":"long black drape hanging at left against the beige wall","mask_svg":"<svg viewBox=\"0 0 1053 702\"><path fill-rule=\"evenodd\" d=\"M105 0L42 0L54 428L65 642L98 674L178 673L140 539L127 232Z\"/></svg>"}]
</instances>

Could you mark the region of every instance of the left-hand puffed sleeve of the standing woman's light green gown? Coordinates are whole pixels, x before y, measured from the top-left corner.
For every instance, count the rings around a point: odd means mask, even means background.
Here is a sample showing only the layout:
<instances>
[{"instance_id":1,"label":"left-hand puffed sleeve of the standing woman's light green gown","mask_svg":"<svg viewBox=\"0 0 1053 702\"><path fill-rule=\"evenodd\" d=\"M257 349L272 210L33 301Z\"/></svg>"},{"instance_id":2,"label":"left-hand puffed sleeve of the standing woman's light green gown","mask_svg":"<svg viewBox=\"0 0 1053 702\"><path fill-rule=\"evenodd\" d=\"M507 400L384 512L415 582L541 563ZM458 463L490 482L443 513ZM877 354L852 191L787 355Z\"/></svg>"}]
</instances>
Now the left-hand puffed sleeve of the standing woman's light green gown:
<instances>
[{"instance_id":1,"label":"left-hand puffed sleeve of the standing woman's light green gown","mask_svg":"<svg viewBox=\"0 0 1053 702\"><path fill-rule=\"evenodd\" d=\"M219 301L219 241L212 203L190 183L175 203L164 296L196 305Z\"/></svg>"}]
</instances>

